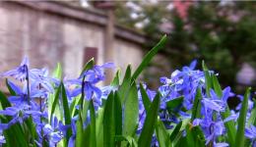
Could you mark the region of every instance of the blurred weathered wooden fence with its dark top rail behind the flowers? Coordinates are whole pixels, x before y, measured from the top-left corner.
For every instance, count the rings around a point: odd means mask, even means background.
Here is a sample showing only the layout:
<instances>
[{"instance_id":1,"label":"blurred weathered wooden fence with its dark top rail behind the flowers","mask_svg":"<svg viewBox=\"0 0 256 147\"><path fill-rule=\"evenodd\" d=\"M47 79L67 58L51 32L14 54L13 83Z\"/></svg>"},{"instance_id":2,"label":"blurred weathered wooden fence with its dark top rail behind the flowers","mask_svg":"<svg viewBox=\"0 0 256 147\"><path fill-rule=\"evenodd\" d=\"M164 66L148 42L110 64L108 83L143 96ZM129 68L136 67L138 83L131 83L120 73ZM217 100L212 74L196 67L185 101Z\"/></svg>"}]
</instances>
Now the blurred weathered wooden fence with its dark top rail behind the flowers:
<instances>
[{"instance_id":1,"label":"blurred weathered wooden fence with its dark top rail behind the flowers","mask_svg":"<svg viewBox=\"0 0 256 147\"><path fill-rule=\"evenodd\" d=\"M0 14L0 72L19 65L25 55L32 68L52 70L60 62L69 77L79 75L92 57L98 65L114 62L124 71L129 63L137 67L145 53L144 34L114 24L112 47L106 49L109 16L96 9L13 1L0 2Z\"/></svg>"}]
</instances>

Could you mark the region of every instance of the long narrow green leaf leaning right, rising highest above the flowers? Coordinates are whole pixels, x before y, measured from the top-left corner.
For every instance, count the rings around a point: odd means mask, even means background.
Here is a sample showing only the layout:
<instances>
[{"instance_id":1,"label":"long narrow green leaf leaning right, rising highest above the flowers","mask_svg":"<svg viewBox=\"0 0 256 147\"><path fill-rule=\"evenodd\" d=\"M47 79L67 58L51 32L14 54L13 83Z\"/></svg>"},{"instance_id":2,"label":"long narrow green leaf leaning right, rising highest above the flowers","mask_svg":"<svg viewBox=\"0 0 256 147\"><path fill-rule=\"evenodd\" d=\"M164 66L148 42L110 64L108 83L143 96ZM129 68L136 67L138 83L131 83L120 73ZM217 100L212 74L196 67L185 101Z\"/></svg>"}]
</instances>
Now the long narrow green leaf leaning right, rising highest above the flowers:
<instances>
[{"instance_id":1,"label":"long narrow green leaf leaning right, rising highest above the flowers","mask_svg":"<svg viewBox=\"0 0 256 147\"><path fill-rule=\"evenodd\" d=\"M167 37L166 35L163 35L160 39L160 42L156 46L154 46L153 49L143 58L142 63L137 68L135 73L133 73L132 75L133 80L135 80L140 75L140 73L142 73L142 71L149 65L152 58L160 51L161 48L163 48L166 41L167 41Z\"/></svg>"}]
</instances>

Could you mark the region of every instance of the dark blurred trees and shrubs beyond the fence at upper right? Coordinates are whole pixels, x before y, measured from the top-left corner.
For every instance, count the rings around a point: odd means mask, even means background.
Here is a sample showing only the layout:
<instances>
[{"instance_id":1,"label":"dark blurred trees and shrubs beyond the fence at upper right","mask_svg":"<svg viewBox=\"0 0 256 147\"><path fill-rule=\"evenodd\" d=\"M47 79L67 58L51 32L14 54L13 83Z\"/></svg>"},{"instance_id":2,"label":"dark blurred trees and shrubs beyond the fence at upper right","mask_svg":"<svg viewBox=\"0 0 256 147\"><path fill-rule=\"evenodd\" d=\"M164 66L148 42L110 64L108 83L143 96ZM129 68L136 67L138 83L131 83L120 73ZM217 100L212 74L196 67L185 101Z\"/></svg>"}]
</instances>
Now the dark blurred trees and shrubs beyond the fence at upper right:
<instances>
[{"instance_id":1,"label":"dark blurred trees and shrubs beyond the fence at upper right","mask_svg":"<svg viewBox=\"0 0 256 147\"><path fill-rule=\"evenodd\" d=\"M136 1L136 7L127 7L124 2L117 2L117 22L145 32L149 36L145 48L152 48L160 35L167 33L163 53L171 69L194 59L204 60L220 73L223 86L243 91L236 73L243 63L256 67L256 2L192 2L186 18L181 18L175 7L166 9L171 3Z\"/></svg>"}]
</instances>

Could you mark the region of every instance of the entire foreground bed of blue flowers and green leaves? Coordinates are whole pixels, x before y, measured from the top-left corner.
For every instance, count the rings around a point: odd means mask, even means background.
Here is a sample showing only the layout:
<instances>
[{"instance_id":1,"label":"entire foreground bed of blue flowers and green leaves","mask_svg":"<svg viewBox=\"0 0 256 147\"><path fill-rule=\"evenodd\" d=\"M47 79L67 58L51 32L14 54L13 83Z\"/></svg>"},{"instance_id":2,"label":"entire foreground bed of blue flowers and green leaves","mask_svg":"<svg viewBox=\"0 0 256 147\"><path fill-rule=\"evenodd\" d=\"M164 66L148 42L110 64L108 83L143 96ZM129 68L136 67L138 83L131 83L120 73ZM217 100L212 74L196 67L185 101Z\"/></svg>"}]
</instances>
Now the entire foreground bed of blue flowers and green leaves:
<instances>
[{"instance_id":1,"label":"entire foreground bed of blue flowers and green leaves","mask_svg":"<svg viewBox=\"0 0 256 147\"><path fill-rule=\"evenodd\" d=\"M15 70L2 73L8 98L0 92L2 146L255 146L255 104L250 88L236 111L226 101L234 93L222 89L217 74L196 61L170 77L161 77L158 91L137 77L166 43L166 36L145 56L134 73L128 66L120 81L103 87L103 70L88 62L76 79L63 79L60 65L50 76L30 69L24 59ZM239 110L239 111L238 111ZM249 119L246 119L249 118ZM236 121L238 119L238 121ZM235 139L236 138L236 139Z\"/></svg>"}]
</instances>

